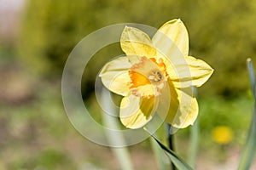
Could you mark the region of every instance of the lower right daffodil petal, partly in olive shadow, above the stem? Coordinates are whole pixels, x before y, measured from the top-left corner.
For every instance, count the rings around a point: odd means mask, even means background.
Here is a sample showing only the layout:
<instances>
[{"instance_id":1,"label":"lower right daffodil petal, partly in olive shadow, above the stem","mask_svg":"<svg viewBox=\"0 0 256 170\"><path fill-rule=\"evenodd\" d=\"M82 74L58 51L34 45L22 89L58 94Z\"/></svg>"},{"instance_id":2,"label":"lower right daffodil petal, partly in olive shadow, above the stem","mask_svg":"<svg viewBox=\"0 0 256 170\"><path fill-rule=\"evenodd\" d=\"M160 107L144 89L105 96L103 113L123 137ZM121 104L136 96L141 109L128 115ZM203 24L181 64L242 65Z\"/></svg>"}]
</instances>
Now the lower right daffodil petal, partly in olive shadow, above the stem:
<instances>
[{"instance_id":1,"label":"lower right daffodil petal, partly in olive shadow, above the stem","mask_svg":"<svg viewBox=\"0 0 256 170\"><path fill-rule=\"evenodd\" d=\"M168 113L159 112L160 116L172 127L184 128L192 125L198 115L198 104L191 88L178 89L169 79L168 88L171 100L169 104L160 99L159 107L169 107Z\"/></svg>"}]
</instances>

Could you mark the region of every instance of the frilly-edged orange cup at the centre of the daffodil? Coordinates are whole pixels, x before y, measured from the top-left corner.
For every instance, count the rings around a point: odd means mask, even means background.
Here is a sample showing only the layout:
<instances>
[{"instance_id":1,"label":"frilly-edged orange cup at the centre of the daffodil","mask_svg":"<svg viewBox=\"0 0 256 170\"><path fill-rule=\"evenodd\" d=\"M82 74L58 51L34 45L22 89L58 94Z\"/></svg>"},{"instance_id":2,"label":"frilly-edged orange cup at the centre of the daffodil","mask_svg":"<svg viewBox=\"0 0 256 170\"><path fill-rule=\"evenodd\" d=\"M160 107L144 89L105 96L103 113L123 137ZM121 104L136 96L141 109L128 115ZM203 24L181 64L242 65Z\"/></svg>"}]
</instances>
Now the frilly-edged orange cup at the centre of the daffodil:
<instances>
[{"instance_id":1,"label":"frilly-edged orange cup at the centre of the daffodil","mask_svg":"<svg viewBox=\"0 0 256 170\"><path fill-rule=\"evenodd\" d=\"M160 95L160 90L165 87L166 65L162 59L142 57L141 61L131 66L130 89L137 97L151 98Z\"/></svg>"}]
</instances>

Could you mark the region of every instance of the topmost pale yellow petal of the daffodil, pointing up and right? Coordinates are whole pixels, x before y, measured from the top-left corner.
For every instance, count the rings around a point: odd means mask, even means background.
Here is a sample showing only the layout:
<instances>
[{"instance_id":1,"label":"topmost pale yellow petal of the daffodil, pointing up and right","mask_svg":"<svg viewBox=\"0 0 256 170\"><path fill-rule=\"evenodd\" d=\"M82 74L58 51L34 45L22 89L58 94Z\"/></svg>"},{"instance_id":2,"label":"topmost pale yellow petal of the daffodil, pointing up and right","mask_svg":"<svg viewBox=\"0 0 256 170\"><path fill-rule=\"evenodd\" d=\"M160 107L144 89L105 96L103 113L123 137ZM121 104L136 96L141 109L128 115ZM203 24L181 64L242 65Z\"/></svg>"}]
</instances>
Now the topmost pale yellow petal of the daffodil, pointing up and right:
<instances>
[{"instance_id":1,"label":"topmost pale yellow petal of the daffodil, pointing up and right","mask_svg":"<svg viewBox=\"0 0 256 170\"><path fill-rule=\"evenodd\" d=\"M156 48L161 47L172 50L172 48L175 48L174 46L177 46L184 56L188 56L189 54L188 31L179 19L170 20L161 26L155 33L152 41Z\"/></svg>"}]
</instances>

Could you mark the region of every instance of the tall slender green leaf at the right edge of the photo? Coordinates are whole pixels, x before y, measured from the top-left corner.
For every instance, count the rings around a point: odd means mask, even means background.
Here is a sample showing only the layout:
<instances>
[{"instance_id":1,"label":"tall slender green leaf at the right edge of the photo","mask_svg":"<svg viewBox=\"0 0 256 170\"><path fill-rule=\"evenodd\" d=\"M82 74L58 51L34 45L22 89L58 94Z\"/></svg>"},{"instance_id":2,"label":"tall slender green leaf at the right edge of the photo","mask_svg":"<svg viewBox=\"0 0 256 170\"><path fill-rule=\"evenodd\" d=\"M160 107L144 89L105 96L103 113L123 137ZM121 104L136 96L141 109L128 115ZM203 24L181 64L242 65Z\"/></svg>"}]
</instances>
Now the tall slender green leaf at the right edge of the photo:
<instances>
[{"instance_id":1,"label":"tall slender green leaf at the right edge of the photo","mask_svg":"<svg viewBox=\"0 0 256 170\"><path fill-rule=\"evenodd\" d=\"M244 145L241 154L241 160L239 163L238 170L249 169L252 166L253 159L255 156L256 150L256 83L255 83L255 75L253 71L253 62L252 59L247 59L247 69L250 77L250 82L253 91L254 97L254 111L253 111L253 119L249 129L249 133L247 136L247 141Z\"/></svg>"}]
</instances>

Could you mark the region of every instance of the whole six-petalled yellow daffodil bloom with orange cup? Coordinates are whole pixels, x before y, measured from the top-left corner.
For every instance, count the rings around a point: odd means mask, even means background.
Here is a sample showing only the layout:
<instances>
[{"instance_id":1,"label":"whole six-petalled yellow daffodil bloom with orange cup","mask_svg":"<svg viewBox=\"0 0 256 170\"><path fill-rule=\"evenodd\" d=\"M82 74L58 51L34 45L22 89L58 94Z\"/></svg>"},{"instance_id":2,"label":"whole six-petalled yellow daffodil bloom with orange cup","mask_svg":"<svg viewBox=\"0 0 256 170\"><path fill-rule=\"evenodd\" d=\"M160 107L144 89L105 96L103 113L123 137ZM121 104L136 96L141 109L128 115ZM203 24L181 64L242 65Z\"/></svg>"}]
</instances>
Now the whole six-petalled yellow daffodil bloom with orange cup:
<instances>
[{"instance_id":1,"label":"whole six-petalled yellow daffodil bloom with orange cup","mask_svg":"<svg viewBox=\"0 0 256 170\"><path fill-rule=\"evenodd\" d=\"M172 127L193 124L198 104L191 87L207 82L213 70L201 59L189 56L189 36L183 22L166 22L152 39L125 26L120 45L126 56L104 65L100 77L106 88L124 96L119 111L123 125L143 127L155 112Z\"/></svg>"}]
</instances>

